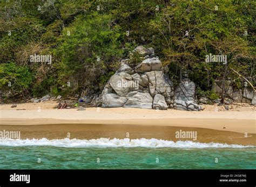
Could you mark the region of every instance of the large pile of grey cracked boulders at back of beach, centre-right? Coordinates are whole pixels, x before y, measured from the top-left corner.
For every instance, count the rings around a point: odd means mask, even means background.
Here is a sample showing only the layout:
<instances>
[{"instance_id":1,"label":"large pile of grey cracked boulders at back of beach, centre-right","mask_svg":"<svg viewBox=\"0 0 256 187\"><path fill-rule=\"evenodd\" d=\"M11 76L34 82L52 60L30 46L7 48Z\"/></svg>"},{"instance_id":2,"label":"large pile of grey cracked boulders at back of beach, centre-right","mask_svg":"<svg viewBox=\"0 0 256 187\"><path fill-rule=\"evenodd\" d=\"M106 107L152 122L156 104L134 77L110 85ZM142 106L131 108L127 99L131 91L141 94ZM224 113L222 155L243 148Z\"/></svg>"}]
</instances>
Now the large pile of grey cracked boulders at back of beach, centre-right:
<instances>
[{"instance_id":1,"label":"large pile of grey cracked boulders at back of beach, centre-right","mask_svg":"<svg viewBox=\"0 0 256 187\"><path fill-rule=\"evenodd\" d=\"M138 53L142 62L131 67L130 59L121 61L121 67L104 87L102 107L200 110L194 98L195 85L192 81L184 77L174 93L173 83L164 74L164 68L158 57L155 57L153 48L139 46L133 53Z\"/></svg>"}]
</instances>

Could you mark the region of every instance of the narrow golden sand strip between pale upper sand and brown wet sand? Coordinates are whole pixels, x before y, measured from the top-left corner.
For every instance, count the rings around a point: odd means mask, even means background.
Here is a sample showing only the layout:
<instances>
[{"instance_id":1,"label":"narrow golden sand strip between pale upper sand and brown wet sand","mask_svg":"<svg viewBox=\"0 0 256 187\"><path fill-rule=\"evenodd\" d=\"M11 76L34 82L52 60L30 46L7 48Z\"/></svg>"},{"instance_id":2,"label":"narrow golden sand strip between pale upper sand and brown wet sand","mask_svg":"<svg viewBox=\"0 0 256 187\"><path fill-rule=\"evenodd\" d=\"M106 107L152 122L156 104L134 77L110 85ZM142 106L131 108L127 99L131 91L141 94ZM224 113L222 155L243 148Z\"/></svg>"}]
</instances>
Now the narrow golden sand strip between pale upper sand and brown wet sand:
<instances>
[{"instance_id":1,"label":"narrow golden sand strip between pale upper sand and brown wet sand","mask_svg":"<svg viewBox=\"0 0 256 187\"><path fill-rule=\"evenodd\" d=\"M170 121L171 120L171 121ZM210 130L256 134L255 120L221 119L221 118L163 118L163 119L101 119L101 120L67 120L56 118L1 118L1 125L140 125L207 128ZM242 125L241 125L242 124Z\"/></svg>"}]
</instances>

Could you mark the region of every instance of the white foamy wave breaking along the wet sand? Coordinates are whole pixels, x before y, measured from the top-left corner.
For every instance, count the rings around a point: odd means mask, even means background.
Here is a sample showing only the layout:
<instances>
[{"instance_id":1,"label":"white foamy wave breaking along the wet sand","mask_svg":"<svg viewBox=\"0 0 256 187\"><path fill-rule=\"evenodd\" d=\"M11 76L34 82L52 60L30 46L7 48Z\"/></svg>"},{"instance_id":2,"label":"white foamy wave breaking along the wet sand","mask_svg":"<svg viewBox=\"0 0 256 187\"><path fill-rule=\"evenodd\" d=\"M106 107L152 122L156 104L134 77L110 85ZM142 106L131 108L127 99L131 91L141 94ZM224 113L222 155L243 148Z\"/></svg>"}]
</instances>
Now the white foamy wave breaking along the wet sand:
<instances>
[{"instance_id":1,"label":"white foamy wave breaking along the wet sand","mask_svg":"<svg viewBox=\"0 0 256 187\"><path fill-rule=\"evenodd\" d=\"M149 148L247 148L255 146L228 145L224 143L200 143L193 141L168 141L159 139L0 139L0 146L55 146L55 147L149 147Z\"/></svg>"}]
</instances>

